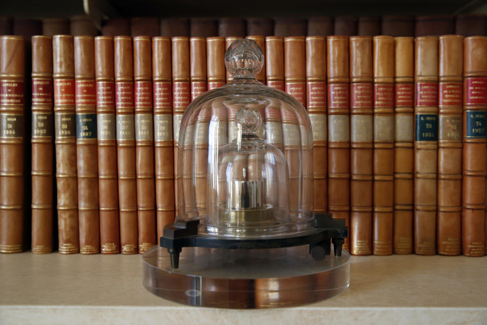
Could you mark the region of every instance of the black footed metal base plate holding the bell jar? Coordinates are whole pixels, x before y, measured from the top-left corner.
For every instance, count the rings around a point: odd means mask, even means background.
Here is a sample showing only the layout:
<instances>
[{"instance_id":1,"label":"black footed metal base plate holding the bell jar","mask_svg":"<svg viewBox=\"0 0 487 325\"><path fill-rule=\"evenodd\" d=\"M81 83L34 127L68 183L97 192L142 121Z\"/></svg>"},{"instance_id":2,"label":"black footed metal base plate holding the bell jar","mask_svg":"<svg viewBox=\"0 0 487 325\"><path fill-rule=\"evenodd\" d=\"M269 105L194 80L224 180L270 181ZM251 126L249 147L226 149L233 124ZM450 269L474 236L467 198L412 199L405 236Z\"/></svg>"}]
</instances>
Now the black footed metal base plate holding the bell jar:
<instances>
[{"instance_id":1,"label":"black footed metal base plate holding the bell jar","mask_svg":"<svg viewBox=\"0 0 487 325\"><path fill-rule=\"evenodd\" d=\"M183 247L267 249L309 245L311 256L320 261L325 255L330 255L331 240L335 256L341 256L344 238L348 236L345 220L333 219L329 213L317 213L315 219L316 227L312 230L291 236L256 239L200 235L198 234L199 220L177 220L165 226L164 236L160 238L160 246L167 248L173 269L179 267L179 254Z\"/></svg>"}]
</instances>

